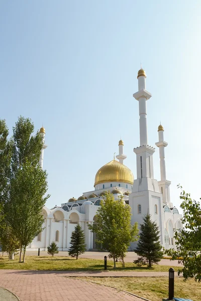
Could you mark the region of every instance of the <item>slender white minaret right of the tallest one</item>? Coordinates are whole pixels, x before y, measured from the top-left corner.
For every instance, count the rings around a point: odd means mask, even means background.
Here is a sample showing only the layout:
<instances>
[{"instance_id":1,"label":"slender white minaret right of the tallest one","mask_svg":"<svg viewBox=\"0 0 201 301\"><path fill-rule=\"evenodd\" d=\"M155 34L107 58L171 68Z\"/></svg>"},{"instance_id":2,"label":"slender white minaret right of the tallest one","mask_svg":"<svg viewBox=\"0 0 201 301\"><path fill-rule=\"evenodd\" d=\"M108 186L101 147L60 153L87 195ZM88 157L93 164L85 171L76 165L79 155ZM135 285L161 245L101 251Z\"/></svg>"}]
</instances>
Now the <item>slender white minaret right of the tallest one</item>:
<instances>
[{"instance_id":1,"label":"slender white minaret right of the tallest one","mask_svg":"<svg viewBox=\"0 0 201 301\"><path fill-rule=\"evenodd\" d=\"M165 169L165 147L168 145L168 143L164 141L163 132L164 132L163 126L160 124L158 127L158 142L156 142L156 146L159 147L159 154L160 154L160 181L158 181L158 185L163 195L163 203L170 207L173 207L173 205L170 203L170 191L169 191L169 186L171 182L166 180L166 169Z\"/></svg>"}]
</instances>

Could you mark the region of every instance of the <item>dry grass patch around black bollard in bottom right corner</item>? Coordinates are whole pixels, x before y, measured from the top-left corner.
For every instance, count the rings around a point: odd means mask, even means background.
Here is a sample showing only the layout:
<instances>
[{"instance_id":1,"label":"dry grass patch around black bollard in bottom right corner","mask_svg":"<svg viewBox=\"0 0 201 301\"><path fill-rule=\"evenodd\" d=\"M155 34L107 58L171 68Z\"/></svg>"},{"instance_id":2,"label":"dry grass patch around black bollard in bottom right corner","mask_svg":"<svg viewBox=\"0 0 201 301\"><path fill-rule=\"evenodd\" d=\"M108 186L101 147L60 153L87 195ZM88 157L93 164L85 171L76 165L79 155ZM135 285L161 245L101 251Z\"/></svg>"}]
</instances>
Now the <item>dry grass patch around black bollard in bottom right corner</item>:
<instances>
[{"instance_id":1,"label":"dry grass patch around black bollard in bottom right corner","mask_svg":"<svg viewBox=\"0 0 201 301\"><path fill-rule=\"evenodd\" d=\"M168 277L76 278L127 290L151 301L161 301L162 298L168 298ZM182 277L176 277L174 282L174 296L200 301L201 283L195 282L193 279L183 282Z\"/></svg>"}]
</instances>

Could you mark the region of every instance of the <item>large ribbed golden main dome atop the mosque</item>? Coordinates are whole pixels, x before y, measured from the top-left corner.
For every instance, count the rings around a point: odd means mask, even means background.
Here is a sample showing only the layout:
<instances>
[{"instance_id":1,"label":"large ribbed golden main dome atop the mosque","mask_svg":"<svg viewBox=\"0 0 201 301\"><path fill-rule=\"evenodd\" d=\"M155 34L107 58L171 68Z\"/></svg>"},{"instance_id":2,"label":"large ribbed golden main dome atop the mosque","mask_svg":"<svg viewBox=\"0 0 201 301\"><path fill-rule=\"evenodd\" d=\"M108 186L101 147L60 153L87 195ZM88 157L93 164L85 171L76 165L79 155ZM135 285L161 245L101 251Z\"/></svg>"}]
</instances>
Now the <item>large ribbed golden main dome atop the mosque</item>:
<instances>
[{"instance_id":1,"label":"large ribbed golden main dome atop the mosque","mask_svg":"<svg viewBox=\"0 0 201 301\"><path fill-rule=\"evenodd\" d=\"M134 177L132 171L119 161L113 160L97 171L94 186L105 182L124 182L133 184L133 181Z\"/></svg>"}]
</instances>

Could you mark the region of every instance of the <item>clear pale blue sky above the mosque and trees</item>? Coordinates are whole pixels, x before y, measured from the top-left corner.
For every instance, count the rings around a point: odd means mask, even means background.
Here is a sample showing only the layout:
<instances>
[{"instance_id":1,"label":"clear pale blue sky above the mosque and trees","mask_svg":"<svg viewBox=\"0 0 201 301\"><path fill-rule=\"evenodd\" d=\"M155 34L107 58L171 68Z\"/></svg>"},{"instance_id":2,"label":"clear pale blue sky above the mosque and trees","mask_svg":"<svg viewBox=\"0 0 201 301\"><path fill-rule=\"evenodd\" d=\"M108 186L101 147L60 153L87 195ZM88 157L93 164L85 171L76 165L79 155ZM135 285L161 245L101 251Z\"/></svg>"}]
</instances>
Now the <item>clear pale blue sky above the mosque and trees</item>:
<instances>
[{"instance_id":1,"label":"clear pale blue sky above the mosque and trees","mask_svg":"<svg viewBox=\"0 0 201 301\"><path fill-rule=\"evenodd\" d=\"M97 170L118 153L136 177L137 72L147 73L148 143L164 126L167 179L200 191L201 3L36 0L0 2L1 118L46 129L48 207L93 190ZM154 154L159 180L159 153Z\"/></svg>"}]
</instances>

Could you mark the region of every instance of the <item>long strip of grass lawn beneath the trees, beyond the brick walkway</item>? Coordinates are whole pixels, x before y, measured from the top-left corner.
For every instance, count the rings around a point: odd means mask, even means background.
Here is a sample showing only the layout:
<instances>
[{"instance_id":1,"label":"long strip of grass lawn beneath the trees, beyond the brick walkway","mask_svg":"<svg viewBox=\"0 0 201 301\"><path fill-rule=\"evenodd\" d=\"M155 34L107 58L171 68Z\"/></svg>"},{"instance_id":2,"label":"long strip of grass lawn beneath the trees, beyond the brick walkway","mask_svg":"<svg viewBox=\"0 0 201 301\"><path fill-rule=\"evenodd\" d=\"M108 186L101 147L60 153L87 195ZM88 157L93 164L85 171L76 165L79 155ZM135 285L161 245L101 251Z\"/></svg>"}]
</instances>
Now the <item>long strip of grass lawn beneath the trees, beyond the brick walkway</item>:
<instances>
[{"instance_id":1,"label":"long strip of grass lawn beneath the trees, beyond the brick walkway","mask_svg":"<svg viewBox=\"0 0 201 301\"><path fill-rule=\"evenodd\" d=\"M27 270L104 270L104 260L78 258L64 256L27 256L25 263L19 263L19 256L15 256L15 260L8 260L8 256L0 257L0 269L27 269ZM153 268L138 267L132 262L126 262L122 267L121 262L116 262L117 271L163 271L167 272L170 266L154 265ZM113 261L108 260L108 269L113 270ZM176 271L176 267L175 267Z\"/></svg>"}]
</instances>

